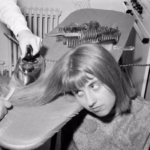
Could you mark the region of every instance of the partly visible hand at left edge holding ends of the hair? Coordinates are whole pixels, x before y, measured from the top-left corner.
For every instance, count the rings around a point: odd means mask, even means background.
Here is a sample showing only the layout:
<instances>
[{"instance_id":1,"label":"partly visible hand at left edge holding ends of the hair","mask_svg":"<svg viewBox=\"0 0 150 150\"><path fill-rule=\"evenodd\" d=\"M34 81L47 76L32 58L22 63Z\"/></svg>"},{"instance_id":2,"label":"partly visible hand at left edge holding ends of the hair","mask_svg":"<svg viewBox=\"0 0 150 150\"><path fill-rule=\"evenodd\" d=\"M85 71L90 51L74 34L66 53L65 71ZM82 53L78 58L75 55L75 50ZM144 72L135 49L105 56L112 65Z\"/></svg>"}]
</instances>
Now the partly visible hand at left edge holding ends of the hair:
<instances>
[{"instance_id":1,"label":"partly visible hand at left edge holding ends of the hair","mask_svg":"<svg viewBox=\"0 0 150 150\"><path fill-rule=\"evenodd\" d=\"M4 116L8 112L8 108L11 107L11 103L7 100L0 98L0 120L4 118Z\"/></svg>"}]
</instances>

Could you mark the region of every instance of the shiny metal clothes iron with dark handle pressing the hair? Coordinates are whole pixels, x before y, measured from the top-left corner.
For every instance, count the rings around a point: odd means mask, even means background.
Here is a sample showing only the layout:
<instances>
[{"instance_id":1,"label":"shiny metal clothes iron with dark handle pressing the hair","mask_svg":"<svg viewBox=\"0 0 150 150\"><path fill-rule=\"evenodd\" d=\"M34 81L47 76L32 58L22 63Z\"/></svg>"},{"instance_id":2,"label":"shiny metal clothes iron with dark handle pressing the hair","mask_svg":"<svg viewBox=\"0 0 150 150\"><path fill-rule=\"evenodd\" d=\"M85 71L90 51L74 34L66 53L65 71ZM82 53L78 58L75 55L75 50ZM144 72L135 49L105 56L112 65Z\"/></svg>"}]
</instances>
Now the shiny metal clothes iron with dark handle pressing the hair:
<instances>
[{"instance_id":1,"label":"shiny metal clothes iron with dark handle pressing the hair","mask_svg":"<svg viewBox=\"0 0 150 150\"><path fill-rule=\"evenodd\" d=\"M35 82L45 71L45 61L40 53L32 55L31 45L27 46L26 56L19 58L14 70L14 78L20 86L27 86Z\"/></svg>"}]
</instances>

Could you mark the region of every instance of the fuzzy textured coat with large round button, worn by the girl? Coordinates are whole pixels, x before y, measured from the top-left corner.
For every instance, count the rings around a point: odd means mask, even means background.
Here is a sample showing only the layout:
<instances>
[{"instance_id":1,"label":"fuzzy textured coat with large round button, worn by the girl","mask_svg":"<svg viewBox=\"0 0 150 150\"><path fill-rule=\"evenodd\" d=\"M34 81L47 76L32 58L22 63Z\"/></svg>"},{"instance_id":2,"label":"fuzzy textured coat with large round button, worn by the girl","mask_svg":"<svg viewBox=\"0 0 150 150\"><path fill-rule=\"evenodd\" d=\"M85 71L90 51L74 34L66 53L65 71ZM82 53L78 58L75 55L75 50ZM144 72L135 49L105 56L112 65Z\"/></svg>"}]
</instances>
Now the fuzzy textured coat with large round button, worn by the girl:
<instances>
[{"instance_id":1,"label":"fuzzy textured coat with large round button, worn by the girl","mask_svg":"<svg viewBox=\"0 0 150 150\"><path fill-rule=\"evenodd\" d=\"M83 110L62 129L62 150L148 150L150 101L138 97L131 106L130 113L113 119Z\"/></svg>"}]
</instances>

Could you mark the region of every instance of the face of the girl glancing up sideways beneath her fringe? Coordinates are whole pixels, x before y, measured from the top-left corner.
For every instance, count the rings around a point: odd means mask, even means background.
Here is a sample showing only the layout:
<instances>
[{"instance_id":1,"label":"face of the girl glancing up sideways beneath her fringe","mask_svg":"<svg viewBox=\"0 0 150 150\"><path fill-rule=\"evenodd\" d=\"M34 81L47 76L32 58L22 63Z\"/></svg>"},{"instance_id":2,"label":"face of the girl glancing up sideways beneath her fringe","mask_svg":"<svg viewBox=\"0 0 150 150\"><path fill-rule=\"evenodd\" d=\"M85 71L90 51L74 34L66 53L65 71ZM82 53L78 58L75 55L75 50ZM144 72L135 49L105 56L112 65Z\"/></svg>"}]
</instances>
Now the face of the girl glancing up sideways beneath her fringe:
<instances>
[{"instance_id":1,"label":"face of the girl glancing up sideways beneath her fringe","mask_svg":"<svg viewBox=\"0 0 150 150\"><path fill-rule=\"evenodd\" d=\"M103 85L96 77L90 77L84 87L74 91L77 101L88 111L98 117L104 117L110 113L115 105L116 97L111 89Z\"/></svg>"}]
</instances>

